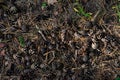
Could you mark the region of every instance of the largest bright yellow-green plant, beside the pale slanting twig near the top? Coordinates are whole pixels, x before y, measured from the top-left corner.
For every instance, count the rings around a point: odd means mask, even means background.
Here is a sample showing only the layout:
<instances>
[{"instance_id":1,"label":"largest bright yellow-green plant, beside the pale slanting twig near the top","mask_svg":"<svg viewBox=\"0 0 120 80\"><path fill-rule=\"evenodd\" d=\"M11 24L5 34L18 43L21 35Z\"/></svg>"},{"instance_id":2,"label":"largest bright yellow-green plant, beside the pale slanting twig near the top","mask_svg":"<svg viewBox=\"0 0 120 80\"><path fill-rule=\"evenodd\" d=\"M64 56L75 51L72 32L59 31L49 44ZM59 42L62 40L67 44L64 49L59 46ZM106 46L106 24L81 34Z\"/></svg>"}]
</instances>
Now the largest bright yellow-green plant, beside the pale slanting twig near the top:
<instances>
[{"instance_id":1,"label":"largest bright yellow-green plant, beside the pale slanting twig near the top","mask_svg":"<svg viewBox=\"0 0 120 80\"><path fill-rule=\"evenodd\" d=\"M86 18L90 18L91 17L91 14L90 13L86 13L84 8L82 7L82 5L79 4L77 1L75 3L75 6L74 6L74 11L77 12L79 15L84 16Z\"/></svg>"}]
</instances>

